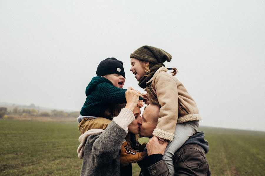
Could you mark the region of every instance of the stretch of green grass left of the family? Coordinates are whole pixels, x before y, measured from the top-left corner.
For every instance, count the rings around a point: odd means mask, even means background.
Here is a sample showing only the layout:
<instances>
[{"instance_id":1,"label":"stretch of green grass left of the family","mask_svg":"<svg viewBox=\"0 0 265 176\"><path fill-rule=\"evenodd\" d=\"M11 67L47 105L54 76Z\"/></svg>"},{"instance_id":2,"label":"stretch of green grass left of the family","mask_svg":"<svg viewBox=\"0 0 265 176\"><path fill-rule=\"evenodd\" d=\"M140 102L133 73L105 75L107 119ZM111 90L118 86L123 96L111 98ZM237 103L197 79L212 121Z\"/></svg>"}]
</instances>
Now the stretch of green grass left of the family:
<instances>
[{"instance_id":1,"label":"stretch of green grass left of the family","mask_svg":"<svg viewBox=\"0 0 265 176\"><path fill-rule=\"evenodd\" d=\"M0 121L0 175L80 175L77 123Z\"/></svg>"}]
</instances>

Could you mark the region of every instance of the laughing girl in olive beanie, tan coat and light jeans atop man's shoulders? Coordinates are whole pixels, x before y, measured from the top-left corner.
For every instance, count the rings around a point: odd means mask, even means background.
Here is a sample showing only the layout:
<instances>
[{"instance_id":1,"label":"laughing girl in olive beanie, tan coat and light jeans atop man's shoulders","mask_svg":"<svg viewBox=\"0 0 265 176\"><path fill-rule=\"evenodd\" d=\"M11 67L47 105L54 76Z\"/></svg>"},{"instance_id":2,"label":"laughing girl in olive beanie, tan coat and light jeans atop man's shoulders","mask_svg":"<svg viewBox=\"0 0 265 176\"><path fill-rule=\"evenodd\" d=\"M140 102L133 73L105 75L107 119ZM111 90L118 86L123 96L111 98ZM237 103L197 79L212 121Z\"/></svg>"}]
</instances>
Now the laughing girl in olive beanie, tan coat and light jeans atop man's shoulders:
<instances>
[{"instance_id":1,"label":"laughing girl in olive beanie, tan coat and light jeans atop man's shoulders","mask_svg":"<svg viewBox=\"0 0 265 176\"><path fill-rule=\"evenodd\" d=\"M142 46L131 53L130 58L130 71L139 81L138 85L147 92L145 98L151 102L157 100L160 105L153 135L161 141L168 140L163 159L170 175L174 175L173 154L196 133L201 120L198 108L183 84L173 77L177 69L166 68L163 64L170 62L170 54L159 48ZM168 70L173 70L172 76Z\"/></svg>"}]
</instances>

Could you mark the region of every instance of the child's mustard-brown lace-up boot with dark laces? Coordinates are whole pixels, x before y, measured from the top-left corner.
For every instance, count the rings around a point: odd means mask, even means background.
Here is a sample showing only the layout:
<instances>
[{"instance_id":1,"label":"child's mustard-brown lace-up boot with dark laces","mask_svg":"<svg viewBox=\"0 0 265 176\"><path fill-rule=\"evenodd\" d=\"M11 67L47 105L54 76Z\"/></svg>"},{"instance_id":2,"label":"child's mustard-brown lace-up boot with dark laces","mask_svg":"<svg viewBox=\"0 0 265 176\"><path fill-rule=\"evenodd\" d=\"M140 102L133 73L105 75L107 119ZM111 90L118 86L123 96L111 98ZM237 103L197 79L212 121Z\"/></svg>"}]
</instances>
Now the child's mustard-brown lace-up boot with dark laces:
<instances>
[{"instance_id":1,"label":"child's mustard-brown lace-up boot with dark laces","mask_svg":"<svg viewBox=\"0 0 265 176\"><path fill-rule=\"evenodd\" d=\"M136 163L147 156L147 152L138 152L125 141L120 148L120 165L127 166Z\"/></svg>"}]
</instances>

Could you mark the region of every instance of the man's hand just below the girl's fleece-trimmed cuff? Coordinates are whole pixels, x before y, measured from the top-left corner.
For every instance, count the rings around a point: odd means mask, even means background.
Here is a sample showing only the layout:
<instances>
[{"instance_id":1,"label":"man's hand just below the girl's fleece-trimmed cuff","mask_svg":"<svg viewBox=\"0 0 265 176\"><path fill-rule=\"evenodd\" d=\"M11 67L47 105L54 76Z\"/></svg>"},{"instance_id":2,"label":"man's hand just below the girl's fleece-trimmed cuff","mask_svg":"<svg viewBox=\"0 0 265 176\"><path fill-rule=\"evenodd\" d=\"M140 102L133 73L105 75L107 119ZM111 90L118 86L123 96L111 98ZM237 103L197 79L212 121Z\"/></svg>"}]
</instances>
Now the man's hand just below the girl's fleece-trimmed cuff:
<instances>
[{"instance_id":1,"label":"man's hand just below the girl's fleece-trimmed cuff","mask_svg":"<svg viewBox=\"0 0 265 176\"><path fill-rule=\"evenodd\" d=\"M160 144L158 138L156 136L153 136L146 144L148 156L158 153L164 155L165 148L167 147L167 145L168 145L167 141L163 142L163 144Z\"/></svg>"}]
</instances>

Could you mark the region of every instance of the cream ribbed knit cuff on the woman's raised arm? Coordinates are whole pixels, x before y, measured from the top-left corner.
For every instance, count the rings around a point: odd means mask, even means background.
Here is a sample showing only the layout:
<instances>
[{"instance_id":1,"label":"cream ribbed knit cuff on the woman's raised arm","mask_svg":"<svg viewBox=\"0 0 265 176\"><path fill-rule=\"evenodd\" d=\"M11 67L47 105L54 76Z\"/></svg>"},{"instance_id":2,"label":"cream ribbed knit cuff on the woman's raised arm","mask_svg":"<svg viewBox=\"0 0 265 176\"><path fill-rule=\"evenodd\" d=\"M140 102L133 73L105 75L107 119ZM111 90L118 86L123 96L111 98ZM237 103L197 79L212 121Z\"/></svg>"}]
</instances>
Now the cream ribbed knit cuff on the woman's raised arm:
<instances>
[{"instance_id":1,"label":"cream ribbed knit cuff on the woman's raised arm","mask_svg":"<svg viewBox=\"0 0 265 176\"><path fill-rule=\"evenodd\" d=\"M113 120L125 131L128 131L128 126L135 119L132 111L127 108L122 108L120 114L117 117L114 117Z\"/></svg>"}]
</instances>

